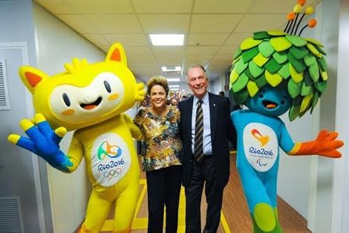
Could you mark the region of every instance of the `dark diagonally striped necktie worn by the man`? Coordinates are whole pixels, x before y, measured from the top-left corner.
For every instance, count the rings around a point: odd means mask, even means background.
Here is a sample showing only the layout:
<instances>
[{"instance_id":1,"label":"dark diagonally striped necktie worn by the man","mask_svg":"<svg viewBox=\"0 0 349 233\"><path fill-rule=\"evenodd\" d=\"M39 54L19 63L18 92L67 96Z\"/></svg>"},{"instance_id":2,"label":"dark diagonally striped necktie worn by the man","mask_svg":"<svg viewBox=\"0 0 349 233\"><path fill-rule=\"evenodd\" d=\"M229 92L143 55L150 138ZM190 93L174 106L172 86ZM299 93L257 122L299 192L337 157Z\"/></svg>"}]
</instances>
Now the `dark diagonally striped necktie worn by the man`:
<instances>
[{"instance_id":1,"label":"dark diagonally striped necktie worn by the man","mask_svg":"<svg viewBox=\"0 0 349 233\"><path fill-rule=\"evenodd\" d=\"M195 118L195 146L194 146L194 157L200 162L204 157L204 115L202 113L202 100L199 99L196 108L196 118Z\"/></svg>"}]
</instances>

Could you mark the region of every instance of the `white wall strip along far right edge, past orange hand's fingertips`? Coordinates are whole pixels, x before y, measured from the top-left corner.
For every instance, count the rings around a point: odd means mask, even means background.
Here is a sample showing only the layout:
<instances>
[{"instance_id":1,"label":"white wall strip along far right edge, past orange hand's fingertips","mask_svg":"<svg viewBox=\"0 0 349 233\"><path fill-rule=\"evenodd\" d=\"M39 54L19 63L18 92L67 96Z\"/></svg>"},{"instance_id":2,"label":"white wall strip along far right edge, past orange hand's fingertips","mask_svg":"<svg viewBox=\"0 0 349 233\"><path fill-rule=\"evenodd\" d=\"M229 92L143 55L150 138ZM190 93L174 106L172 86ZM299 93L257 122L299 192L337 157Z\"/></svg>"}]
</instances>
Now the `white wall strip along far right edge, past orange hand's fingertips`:
<instances>
[{"instance_id":1,"label":"white wall strip along far right edge, past orange hand's fingertips","mask_svg":"<svg viewBox=\"0 0 349 233\"><path fill-rule=\"evenodd\" d=\"M339 10L339 52L336 102L336 130L346 143L343 157L334 164L332 233L349 232L349 1L341 0Z\"/></svg>"}]
</instances>

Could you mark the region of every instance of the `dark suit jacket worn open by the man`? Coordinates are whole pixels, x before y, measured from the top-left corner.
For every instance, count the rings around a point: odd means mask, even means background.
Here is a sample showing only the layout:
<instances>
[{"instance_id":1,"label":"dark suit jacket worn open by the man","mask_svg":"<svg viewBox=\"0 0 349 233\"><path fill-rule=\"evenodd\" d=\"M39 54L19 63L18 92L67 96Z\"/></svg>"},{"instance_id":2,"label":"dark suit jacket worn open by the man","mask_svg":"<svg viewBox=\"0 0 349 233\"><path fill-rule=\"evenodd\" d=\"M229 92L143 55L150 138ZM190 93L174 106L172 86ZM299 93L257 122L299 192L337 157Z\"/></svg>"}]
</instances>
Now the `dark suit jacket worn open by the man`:
<instances>
[{"instance_id":1,"label":"dark suit jacket worn open by the man","mask_svg":"<svg viewBox=\"0 0 349 233\"><path fill-rule=\"evenodd\" d=\"M181 141L183 143L183 185L187 186L191 179L193 167L193 153L191 150L191 118L193 111L193 96L179 102L181 121L179 123ZM235 145L236 131L230 120L230 101L226 97L220 97L209 93L209 112L211 119L211 145L214 157L216 182L221 187L228 183L229 179L229 148L228 140ZM205 115L204 115L205 118Z\"/></svg>"}]
</instances>

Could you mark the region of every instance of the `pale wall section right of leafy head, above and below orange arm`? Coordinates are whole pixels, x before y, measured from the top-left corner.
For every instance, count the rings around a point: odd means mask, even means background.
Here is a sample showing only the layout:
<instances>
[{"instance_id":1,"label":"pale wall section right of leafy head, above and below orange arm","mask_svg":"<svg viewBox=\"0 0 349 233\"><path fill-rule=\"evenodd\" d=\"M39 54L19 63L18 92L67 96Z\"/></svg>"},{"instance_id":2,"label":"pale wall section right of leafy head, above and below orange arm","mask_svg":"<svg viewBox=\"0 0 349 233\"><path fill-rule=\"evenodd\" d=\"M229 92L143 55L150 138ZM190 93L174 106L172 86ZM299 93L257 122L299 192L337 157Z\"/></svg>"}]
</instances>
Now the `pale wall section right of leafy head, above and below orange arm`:
<instances>
[{"instance_id":1,"label":"pale wall section right of leafy head, above and below orange arm","mask_svg":"<svg viewBox=\"0 0 349 233\"><path fill-rule=\"evenodd\" d=\"M327 55L327 90L320 101L320 129L333 131L336 125L336 86L338 68L338 33L339 33L339 0L323 0L316 8L321 13L321 21L317 26L320 41L325 46ZM334 161L326 157L315 157L311 190L313 203L311 208L311 230L316 233L328 233L332 228L332 195Z\"/></svg>"}]
</instances>

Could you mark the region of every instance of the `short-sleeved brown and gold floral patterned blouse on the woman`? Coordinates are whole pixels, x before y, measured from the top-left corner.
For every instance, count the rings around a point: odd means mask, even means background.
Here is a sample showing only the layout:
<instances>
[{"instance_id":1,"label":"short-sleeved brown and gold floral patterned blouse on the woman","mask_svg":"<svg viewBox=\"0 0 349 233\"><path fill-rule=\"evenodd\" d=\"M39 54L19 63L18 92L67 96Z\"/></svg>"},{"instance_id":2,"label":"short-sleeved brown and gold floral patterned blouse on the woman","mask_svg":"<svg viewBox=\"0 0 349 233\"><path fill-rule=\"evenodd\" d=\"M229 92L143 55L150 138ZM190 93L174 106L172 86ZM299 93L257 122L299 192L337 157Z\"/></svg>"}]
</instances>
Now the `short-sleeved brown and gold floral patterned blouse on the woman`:
<instances>
[{"instance_id":1,"label":"short-sleeved brown and gold floral patterned blouse on the woman","mask_svg":"<svg viewBox=\"0 0 349 233\"><path fill-rule=\"evenodd\" d=\"M174 106L170 106L168 114L164 116L151 113L149 108L140 108L133 121L143 134L141 150L143 171L181 164L179 118L179 110Z\"/></svg>"}]
</instances>

